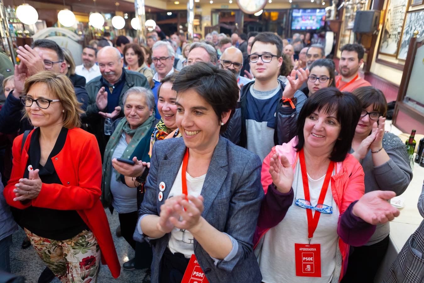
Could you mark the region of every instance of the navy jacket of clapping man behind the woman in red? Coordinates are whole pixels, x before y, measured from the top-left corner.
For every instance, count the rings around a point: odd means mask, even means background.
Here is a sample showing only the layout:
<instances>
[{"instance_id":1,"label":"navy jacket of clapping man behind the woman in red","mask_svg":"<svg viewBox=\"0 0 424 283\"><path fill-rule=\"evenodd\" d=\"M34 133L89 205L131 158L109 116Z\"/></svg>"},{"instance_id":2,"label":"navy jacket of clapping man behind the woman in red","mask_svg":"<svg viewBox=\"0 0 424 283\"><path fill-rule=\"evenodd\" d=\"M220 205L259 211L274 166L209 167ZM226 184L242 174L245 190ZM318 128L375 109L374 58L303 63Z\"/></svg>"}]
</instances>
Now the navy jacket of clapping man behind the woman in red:
<instances>
[{"instance_id":1,"label":"navy jacket of clapping man behind the woman in red","mask_svg":"<svg viewBox=\"0 0 424 283\"><path fill-rule=\"evenodd\" d=\"M81 109L86 111L88 105L88 94L84 87L74 87L75 95L79 102L82 103ZM22 105L19 98L15 98L12 94L13 90L9 93L6 103L0 111L0 132L3 134L13 134L17 131L22 134L25 130L33 129L28 119L21 120L23 117ZM84 118L84 117L81 117Z\"/></svg>"}]
</instances>

